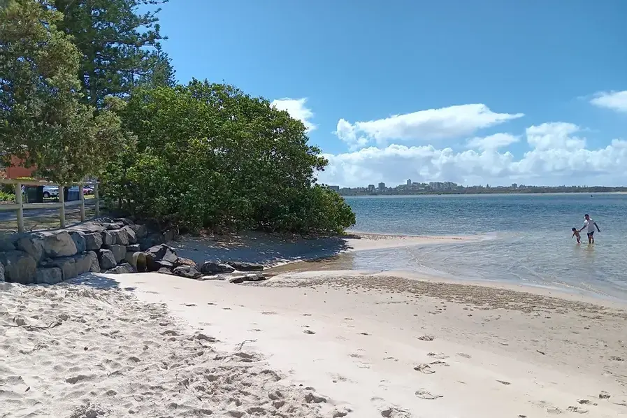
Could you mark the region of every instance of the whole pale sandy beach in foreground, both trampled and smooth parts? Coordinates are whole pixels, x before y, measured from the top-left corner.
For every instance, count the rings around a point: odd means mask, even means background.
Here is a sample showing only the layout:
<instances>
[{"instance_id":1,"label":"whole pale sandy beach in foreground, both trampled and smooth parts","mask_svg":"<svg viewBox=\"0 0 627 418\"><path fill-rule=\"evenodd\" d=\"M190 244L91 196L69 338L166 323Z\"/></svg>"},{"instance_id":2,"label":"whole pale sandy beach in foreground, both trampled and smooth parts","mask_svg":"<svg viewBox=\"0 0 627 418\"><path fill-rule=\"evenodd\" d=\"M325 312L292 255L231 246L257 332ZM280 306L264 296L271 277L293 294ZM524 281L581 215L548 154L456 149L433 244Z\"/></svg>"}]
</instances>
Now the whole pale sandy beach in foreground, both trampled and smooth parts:
<instances>
[{"instance_id":1,"label":"whole pale sandy beach in foreground, both trampled and smooth parts","mask_svg":"<svg viewBox=\"0 0 627 418\"><path fill-rule=\"evenodd\" d=\"M1 284L0 417L627 417L624 307L424 279Z\"/></svg>"}]
</instances>

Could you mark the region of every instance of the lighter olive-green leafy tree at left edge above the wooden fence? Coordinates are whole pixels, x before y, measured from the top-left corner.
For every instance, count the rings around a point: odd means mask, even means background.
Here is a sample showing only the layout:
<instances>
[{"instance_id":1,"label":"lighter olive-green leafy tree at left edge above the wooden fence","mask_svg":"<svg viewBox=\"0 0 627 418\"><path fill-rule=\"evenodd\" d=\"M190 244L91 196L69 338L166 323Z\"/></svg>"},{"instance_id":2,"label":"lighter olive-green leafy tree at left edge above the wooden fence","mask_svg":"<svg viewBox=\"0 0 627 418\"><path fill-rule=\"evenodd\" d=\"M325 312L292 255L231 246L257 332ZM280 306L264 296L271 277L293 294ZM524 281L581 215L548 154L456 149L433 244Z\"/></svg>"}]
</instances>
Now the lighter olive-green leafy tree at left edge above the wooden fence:
<instances>
[{"instance_id":1,"label":"lighter olive-green leafy tree at left edge above the wooden fence","mask_svg":"<svg viewBox=\"0 0 627 418\"><path fill-rule=\"evenodd\" d=\"M50 180L99 171L125 134L108 103L99 115L80 102L79 52L57 29L45 0L9 0L0 9L0 150Z\"/></svg>"}]
</instances>

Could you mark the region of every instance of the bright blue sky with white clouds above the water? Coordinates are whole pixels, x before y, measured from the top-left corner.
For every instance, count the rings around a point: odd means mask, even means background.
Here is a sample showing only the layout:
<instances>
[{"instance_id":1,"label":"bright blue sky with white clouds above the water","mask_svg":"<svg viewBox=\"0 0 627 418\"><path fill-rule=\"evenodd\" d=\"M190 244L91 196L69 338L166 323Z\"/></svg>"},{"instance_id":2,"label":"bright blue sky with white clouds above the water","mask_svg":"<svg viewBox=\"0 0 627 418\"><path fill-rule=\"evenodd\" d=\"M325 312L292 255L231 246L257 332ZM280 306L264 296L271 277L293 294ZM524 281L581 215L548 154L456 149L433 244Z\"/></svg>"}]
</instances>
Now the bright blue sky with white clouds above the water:
<instances>
[{"instance_id":1,"label":"bright blue sky with white clouds above the water","mask_svg":"<svg viewBox=\"0 0 627 418\"><path fill-rule=\"evenodd\" d=\"M321 181L627 185L627 1L173 0L159 17L180 82L305 120Z\"/></svg>"}]
</instances>

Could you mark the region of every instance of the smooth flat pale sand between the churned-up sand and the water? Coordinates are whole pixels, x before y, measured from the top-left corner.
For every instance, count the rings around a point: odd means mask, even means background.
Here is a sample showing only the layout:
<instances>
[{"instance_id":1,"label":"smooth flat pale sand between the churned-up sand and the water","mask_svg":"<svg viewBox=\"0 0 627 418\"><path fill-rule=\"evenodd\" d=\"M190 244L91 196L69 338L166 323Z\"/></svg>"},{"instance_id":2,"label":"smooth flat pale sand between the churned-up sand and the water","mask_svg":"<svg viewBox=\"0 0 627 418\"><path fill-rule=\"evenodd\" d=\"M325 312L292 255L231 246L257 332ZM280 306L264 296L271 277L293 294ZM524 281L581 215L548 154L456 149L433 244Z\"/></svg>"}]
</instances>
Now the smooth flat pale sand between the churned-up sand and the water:
<instances>
[{"instance_id":1,"label":"smooth flat pale sand between the churned-up sand and the water","mask_svg":"<svg viewBox=\"0 0 627 418\"><path fill-rule=\"evenodd\" d=\"M223 348L246 340L352 416L627 416L624 311L367 275L264 286L115 280Z\"/></svg>"}]
</instances>

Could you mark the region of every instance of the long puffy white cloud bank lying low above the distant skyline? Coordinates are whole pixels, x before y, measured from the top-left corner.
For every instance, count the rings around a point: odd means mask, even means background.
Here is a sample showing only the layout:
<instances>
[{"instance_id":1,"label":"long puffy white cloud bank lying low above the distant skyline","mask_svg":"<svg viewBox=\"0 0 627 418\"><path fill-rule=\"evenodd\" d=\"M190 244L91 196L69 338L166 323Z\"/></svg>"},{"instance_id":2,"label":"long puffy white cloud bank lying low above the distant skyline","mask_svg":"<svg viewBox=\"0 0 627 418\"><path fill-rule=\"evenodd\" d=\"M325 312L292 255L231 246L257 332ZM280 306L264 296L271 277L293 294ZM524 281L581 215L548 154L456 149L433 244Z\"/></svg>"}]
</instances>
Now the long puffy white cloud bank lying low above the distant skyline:
<instances>
[{"instance_id":1,"label":"long puffy white cloud bank lying low above the distant skyline","mask_svg":"<svg viewBox=\"0 0 627 418\"><path fill-rule=\"evenodd\" d=\"M407 178L463 185L626 185L627 140L612 140L606 147L589 149L585 138L575 136L579 131L576 125L563 122L528 127L526 142L531 150L519 158L490 146L516 138L509 134L470 140L479 151L394 144L326 154L329 167L319 173L319 180L343 187L380 181L397 185Z\"/></svg>"}]
</instances>

